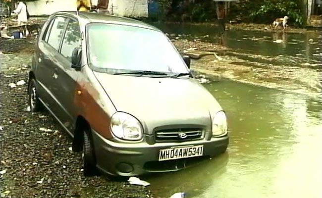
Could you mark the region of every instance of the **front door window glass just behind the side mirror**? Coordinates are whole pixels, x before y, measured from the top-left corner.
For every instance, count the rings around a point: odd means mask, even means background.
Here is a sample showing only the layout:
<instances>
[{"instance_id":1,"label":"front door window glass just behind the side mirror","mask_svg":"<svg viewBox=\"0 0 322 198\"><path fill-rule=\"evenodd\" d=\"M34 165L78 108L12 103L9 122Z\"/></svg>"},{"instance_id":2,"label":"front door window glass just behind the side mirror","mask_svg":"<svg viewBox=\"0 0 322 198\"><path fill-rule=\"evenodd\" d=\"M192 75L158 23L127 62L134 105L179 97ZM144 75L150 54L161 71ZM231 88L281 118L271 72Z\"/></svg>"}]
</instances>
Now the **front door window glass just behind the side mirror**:
<instances>
[{"instance_id":1,"label":"front door window glass just behind the side mirror","mask_svg":"<svg viewBox=\"0 0 322 198\"><path fill-rule=\"evenodd\" d=\"M79 24L75 20L69 20L60 53L71 61L73 49L81 46Z\"/></svg>"}]
</instances>

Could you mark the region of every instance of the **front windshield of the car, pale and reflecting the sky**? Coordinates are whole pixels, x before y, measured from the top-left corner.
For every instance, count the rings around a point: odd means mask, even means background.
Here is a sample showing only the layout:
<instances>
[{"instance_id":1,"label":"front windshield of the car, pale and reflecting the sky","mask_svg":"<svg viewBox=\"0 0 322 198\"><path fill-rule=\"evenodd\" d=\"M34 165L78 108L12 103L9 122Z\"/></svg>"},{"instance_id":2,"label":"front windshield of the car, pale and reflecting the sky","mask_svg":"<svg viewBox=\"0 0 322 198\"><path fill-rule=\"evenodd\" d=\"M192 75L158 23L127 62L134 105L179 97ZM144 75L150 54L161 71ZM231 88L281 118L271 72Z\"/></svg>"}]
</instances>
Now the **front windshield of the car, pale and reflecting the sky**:
<instances>
[{"instance_id":1,"label":"front windshield of the car, pale and reflecting the sky","mask_svg":"<svg viewBox=\"0 0 322 198\"><path fill-rule=\"evenodd\" d=\"M112 74L188 73L180 54L159 31L116 24L87 26L89 64ZM148 71L148 72L146 72Z\"/></svg>"}]
</instances>

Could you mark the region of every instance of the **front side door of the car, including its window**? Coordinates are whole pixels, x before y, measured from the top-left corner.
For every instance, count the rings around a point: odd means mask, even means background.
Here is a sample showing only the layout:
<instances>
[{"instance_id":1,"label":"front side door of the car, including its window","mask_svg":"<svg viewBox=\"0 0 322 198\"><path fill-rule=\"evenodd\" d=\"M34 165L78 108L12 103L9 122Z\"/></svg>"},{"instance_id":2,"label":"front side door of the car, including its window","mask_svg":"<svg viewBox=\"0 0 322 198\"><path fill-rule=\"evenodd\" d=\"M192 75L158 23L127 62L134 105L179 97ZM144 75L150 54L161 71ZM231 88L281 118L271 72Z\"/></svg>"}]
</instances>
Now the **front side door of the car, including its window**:
<instances>
[{"instance_id":1,"label":"front side door of the car, including its window","mask_svg":"<svg viewBox=\"0 0 322 198\"><path fill-rule=\"evenodd\" d=\"M74 107L74 96L76 93L76 81L80 71L71 67L71 55L73 49L81 47L81 33L78 20L69 18L66 31L63 36L57 63L54 65L56 78L53 83L53 94L56 97L57 112L62 124L71 131L76 117Z\"/></svg>"}]
</instances>

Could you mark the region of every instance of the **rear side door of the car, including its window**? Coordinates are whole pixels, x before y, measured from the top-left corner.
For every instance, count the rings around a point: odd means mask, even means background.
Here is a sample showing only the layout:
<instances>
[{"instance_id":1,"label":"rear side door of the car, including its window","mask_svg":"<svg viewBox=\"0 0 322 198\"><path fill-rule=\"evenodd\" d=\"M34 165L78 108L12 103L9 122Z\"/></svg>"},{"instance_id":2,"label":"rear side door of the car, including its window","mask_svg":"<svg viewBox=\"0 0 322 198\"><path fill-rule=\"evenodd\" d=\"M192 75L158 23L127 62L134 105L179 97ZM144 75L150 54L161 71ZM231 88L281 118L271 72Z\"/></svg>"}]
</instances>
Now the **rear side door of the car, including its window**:
<instances>
[{"instance_id":1,"label":"rear side door of the car, including its window","mask_svg":"<svg viewBox=\"0 0 322 198\"><path fill-rule=\"evenodd\" d=\"M40 99L53 112L55 108L55 96L53 95L54 64L61 45L63 32L67 24L67 18L55 16L50 21L47 29L38 43L36 78Z\"/></svg>"}]
</instances>

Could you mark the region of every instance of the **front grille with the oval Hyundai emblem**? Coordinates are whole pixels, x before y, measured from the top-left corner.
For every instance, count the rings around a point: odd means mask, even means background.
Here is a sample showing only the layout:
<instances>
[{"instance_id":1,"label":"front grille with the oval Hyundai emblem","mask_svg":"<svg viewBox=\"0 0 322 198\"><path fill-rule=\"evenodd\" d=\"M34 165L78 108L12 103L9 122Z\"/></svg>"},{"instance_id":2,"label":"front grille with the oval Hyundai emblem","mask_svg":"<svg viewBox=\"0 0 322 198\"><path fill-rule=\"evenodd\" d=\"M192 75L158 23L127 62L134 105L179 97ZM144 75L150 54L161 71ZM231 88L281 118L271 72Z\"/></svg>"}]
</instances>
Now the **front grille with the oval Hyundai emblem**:
<instances>
[{"instance_id":1,"label":"front grille with the oval Hyundai emblem","mask_svg":"<svg viewBox=\"0 0 322 198\"><path fill-rule=\"evenodd\" d=\"M156 132L156 142L183 142L200 140L203 130L200 128L165 129Z\"/></svg>"}]
</instances>

